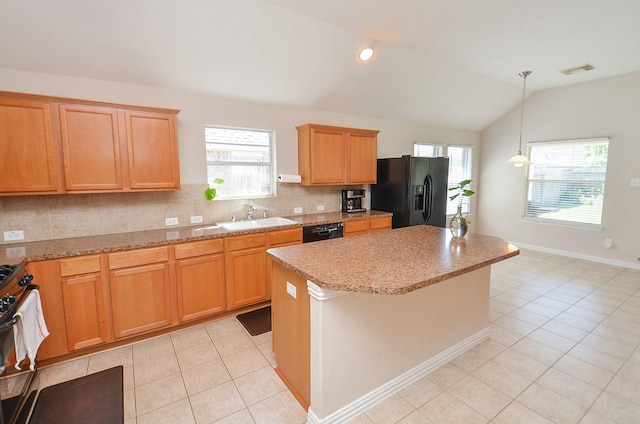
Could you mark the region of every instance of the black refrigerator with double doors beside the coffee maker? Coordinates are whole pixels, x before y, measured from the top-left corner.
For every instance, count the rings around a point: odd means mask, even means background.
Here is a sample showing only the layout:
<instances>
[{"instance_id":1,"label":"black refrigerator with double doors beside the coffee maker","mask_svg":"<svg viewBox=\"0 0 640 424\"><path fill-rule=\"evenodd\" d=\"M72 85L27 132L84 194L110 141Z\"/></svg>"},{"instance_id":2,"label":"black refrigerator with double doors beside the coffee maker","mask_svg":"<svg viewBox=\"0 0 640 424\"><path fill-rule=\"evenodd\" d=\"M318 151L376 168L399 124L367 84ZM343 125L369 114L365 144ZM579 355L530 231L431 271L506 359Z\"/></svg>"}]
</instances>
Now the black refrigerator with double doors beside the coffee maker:
<instances>
[{"instance_id":1,"label":"black refrigerator with double doors beside the coffee maker","mask_svg":"<svg viewBox=\"0 0 640 424\"><path fill-rule=\"evenodd\" d=\"M371 209L393 212L392 227L445 227L449 158L402 156L378 159Z\"/></svg>"}]
</instances>

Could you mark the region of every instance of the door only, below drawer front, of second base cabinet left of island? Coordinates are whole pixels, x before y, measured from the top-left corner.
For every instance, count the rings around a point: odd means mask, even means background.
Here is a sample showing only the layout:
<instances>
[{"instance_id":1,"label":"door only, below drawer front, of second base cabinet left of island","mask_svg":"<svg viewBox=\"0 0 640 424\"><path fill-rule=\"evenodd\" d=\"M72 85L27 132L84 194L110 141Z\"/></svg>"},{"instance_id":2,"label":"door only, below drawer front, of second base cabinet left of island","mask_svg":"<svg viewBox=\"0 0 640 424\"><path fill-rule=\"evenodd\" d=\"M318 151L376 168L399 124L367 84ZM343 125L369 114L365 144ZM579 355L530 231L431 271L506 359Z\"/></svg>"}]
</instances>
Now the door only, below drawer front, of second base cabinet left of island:
<instances>
[{"instance_id":1,"label":"door only, below drawer front, of second base cabinet left of island","mask_svg":"<svg viewBox=\"0 0 640 424\"><path fill-rule=\"evenodd\" d=\"M180 322L224 311L224 255L207 255L177 261L176 275Z\"/></svg>"}]
</instances>

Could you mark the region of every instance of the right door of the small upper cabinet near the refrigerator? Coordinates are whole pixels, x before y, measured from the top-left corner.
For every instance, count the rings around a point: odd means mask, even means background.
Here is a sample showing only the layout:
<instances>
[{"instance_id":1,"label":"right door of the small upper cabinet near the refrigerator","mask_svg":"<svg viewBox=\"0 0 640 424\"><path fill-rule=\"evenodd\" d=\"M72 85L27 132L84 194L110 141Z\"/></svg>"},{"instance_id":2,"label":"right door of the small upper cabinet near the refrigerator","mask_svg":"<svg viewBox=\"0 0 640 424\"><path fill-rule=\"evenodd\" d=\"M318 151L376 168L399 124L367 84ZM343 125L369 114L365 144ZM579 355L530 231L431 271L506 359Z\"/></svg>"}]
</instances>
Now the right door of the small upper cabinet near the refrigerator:
<instances>
[{"instance_id":1,"label":"right door of the small upper cabinet near the refrigerator","mask_svg":"<svg viewBox=\"0 0 640 424\"><path fill-rule=\"evenodd\" d=\"M375 184L377 139L376 133L349 132L347 137L347 183Z\"/></svg>"}]
</instances>

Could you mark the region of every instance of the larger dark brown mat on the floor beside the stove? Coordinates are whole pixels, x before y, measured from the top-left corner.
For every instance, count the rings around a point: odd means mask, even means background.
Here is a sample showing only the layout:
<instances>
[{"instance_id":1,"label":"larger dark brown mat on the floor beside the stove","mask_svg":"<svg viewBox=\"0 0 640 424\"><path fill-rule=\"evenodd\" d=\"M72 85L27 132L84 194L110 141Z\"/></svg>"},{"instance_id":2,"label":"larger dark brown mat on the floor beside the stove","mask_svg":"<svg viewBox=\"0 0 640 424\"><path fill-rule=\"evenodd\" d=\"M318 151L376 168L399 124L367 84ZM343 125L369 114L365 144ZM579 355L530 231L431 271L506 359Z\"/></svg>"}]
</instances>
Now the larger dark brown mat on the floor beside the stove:
<instances>
[{"instance_id":1,"label":"larger dark brown mat on the floor beside the stove","mask_svg":"<svg viewBox=\"0 0 640 424\"><path fill-rule=\"evenodd\" d=\"M42 389L29 423L124 423L122 373L118 366Z\"/></svg>"}]
</instances>

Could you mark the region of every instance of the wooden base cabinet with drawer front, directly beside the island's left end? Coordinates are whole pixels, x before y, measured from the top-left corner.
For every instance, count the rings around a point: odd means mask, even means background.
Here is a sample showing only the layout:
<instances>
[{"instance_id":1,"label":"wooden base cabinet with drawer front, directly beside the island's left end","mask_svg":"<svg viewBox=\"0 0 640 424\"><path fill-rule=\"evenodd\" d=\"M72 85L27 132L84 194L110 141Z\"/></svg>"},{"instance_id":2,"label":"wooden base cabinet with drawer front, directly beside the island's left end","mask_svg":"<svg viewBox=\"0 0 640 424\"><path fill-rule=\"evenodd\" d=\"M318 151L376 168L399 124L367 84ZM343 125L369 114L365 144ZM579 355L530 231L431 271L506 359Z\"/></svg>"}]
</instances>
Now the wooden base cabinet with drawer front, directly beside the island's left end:
<instances>
[{"instance_id":1,"label":"wooden base cabinet with drawer front, directly beside the island's left end","mask_svg":"<svg viewBox=\"0 0 640 424\"><path fill-rule=\"evenodd\" d=\"M228 237L227 309L267 300L267 253L264 233Z\"/></svg>"}]
</instances>

